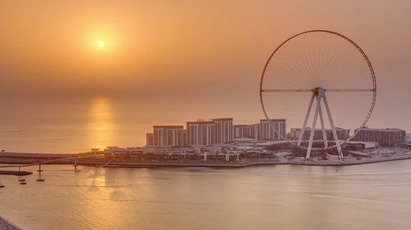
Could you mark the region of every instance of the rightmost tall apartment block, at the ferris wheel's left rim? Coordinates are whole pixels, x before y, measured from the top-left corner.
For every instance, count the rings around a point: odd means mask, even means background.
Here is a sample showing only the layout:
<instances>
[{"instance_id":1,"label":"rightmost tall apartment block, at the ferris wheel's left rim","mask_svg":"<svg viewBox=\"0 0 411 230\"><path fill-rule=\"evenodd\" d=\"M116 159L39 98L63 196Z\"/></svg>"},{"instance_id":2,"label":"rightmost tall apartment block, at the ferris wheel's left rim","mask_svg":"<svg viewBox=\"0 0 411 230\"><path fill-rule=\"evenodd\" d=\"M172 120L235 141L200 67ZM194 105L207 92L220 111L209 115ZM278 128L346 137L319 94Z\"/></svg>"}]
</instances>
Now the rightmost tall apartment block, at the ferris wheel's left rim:
<instances>
[{"instance_id":1,"label":"rightmost tall apartment block, at the ferris wheel's left rim","mask_svg":"<svg viewBox=\"0 0 411 230\"><path fill-rule=\"evenodd\" d=\"M260 141L275 141L286 136L286 119L260 119Z\"/></svg>"}]
</instances>

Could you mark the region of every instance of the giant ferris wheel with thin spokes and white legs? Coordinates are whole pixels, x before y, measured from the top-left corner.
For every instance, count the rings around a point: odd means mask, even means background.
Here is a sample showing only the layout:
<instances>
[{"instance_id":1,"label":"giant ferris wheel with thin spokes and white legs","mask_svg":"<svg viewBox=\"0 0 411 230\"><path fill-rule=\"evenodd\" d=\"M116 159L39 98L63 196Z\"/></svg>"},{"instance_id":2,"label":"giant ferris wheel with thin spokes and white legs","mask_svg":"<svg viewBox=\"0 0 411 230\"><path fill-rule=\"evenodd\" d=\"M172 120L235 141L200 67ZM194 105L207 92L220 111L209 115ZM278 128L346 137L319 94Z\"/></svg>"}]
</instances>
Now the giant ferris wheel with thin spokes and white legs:
<instances>
[{"instance_id":1,"label":"giant ferris wheel with thin spokes and white legs","mask_svg":"<svg viewBox=\"0 0 411 230\"><path fill-rule=\"evenodd\" d=\"M312 30L298 33L288 38L280 44L266 61L262 71L260 81L260 100L262 110L266 119L273 118L276 114L269 107L279 100L279 95L303 94L303 98L311 98L308 103L308 110L303 119L301 131L298 140L291 140L289 137L282 136L274 127L280 139L288 141L303 149L307 149L306 158L310 158L312 149L332 149L336 148L338 155L343 158L341 145L349 141L364 128L373 112L377 88L375 74L371 62L360 46L347 38L345 35L326 30ZM337 95L339 102L333 104L339 111L343 104L356 104L357 101L363 101L366 104L361 108L363 111L361 119L353 121L356 123L358 130L351 136L338 139L336 124L334 124L332 111L330 109L327 96ZM356 94L356 99L347 102L349 98ZM314 101L316 105L313 107ZM345 103L344 103L345 102ZM287 109L292 109L287 105ZM301 107L299 102L294 105L295 108ZM323 106L325 115L323 115ZM368 113L366 112L368 111ZM349 114L350 111L347 111ZM352 111L355 113L356 111ZM347 113L338 113L337 116L347 116ZM310 114L312 114L312 126L306 128ZM298 116L303 117L303 113ZM348 115L349 116L349 115ZM321 123L321 140L324 147L313 147L314 132L316 130L317 119ZM355 120L355 119L354 119ZM332 135L327 140L325 122L329 123ZM303 136L306 130L309 132L308 146L303 146ZM306 136L307 138L307 136ZM329 141L331 144L329 144Z\"/></svg>"}]
</instances>

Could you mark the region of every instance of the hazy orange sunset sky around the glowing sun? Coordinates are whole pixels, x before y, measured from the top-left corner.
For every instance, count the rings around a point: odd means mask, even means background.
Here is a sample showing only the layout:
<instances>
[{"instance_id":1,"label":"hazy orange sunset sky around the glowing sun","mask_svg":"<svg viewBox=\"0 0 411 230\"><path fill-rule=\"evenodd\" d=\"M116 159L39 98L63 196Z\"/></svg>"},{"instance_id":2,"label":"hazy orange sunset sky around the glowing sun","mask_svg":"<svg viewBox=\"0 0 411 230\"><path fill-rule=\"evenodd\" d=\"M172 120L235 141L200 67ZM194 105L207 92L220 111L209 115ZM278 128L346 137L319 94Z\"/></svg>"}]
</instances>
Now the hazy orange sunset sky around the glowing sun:
<instances>
[{"instance_id":1,"label":"hazy orange sunset sky around the glowing sun","mask_svg":"<svg viewBox=\"0 0 411 230\"><path fill-rule=\"evenodd\" d=\"M236 109L241 102L261 118L258 86L269 55L295 33L328 29L373 63L375 114L409 114L410 15L408 0L1 1L1 90L178 101L234 117L246 113Z\"/></svg>"}]
</instances>

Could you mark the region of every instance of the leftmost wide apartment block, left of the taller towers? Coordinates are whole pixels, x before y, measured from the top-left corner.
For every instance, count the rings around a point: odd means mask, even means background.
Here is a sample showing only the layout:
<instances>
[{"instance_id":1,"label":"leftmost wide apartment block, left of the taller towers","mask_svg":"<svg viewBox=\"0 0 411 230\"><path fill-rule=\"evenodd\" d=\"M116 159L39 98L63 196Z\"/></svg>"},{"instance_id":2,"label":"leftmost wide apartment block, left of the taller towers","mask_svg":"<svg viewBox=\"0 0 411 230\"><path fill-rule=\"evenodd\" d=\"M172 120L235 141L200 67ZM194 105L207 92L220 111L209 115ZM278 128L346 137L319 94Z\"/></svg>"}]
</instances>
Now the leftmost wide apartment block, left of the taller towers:
<instances>
[{"instance_id":1,"label":"leftmost wide apartment block, left of the taller towers","mask_svg":"<svg viewBox=\"0 0 411 230\"><path fill-rule=\"evenodd\" d=\"M153 146L184 146L184 126L153 126Z\"/></svg>"}]
</instances>

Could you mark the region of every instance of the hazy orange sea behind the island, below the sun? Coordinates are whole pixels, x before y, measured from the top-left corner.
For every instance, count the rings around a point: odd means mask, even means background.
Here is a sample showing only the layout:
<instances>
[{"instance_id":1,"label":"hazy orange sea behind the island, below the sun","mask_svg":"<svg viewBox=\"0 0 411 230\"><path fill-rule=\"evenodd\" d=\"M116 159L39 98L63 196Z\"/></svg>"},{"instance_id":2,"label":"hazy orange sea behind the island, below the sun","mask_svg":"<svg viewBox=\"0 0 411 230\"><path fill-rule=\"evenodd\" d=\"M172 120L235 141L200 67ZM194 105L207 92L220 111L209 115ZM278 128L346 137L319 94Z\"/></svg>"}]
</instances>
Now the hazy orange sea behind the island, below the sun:
<instances>
[{"instance_id":1,"label":"hazy orange sea behind the island, below the sun","mask_svg":"<svg viewBox=\"0 0 411 230\"><path fill-rule=\"evenodd\" d=\"M3 102L0 148L9 152L77 153L108 145L145 144L153 114L125 100L32 98ZM169 116L170 122L175 122Z\"/></svg>"}]
</instances>

